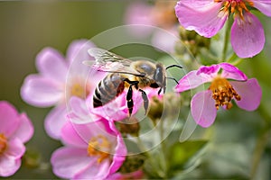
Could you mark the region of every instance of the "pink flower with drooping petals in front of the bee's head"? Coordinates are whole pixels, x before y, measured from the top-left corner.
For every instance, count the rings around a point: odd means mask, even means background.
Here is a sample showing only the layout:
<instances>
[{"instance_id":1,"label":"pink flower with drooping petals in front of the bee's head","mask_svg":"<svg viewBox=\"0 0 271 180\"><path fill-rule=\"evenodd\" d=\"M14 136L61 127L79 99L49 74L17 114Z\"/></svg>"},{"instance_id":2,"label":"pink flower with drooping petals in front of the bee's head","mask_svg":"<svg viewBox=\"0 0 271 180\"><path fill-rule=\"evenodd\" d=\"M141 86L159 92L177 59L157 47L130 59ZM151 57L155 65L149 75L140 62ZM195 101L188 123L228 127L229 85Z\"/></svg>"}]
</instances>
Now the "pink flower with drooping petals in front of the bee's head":
<instances>
[{"instance_id":1,"label":"pink flower with drooping petals in front of the bee's head","mask_svg":"<svg viewBox=\"0 0 271 180\"><path fill-rule=\"evenodd\" d=\"M221 70L221 73L220 73ZM210 83L208 90L192 97L192 117L197 124L209 127L216 118L220 106L230 109L234 99L238 107L247 111L257 109L262 91L256 78L248 77L228 63L220 63L210 67L200 67L183 76L176 85L177 92L183 92L204 83Z\"/></svg>"}]
</instances>

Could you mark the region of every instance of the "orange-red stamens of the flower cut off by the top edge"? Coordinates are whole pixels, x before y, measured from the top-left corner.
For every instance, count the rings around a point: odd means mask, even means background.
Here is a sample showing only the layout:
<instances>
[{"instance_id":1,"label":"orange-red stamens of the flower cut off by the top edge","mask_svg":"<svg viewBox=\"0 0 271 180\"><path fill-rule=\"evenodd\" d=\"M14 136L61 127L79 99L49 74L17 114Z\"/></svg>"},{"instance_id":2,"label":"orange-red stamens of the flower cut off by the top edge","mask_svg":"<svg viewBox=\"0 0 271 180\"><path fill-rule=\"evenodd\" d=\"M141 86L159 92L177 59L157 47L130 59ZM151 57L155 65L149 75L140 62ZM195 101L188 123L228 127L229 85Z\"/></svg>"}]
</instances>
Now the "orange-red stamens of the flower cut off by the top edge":
<instances>
[{"instance_id":1,"label":"orange-red stamens of the flower cut off by the top edge","mask_svg":"<svg viewBox=\"0 0 271 180\"><path fill-rule=\"evenodd\" d=\"M248 12L247 5L254 5L251 0L214 0L214 2L223 2L224 6L221 8L221 11L230 12L231 14L238 14L242 20L244 20L244 11Z\"/></svg>"}]
</instances>

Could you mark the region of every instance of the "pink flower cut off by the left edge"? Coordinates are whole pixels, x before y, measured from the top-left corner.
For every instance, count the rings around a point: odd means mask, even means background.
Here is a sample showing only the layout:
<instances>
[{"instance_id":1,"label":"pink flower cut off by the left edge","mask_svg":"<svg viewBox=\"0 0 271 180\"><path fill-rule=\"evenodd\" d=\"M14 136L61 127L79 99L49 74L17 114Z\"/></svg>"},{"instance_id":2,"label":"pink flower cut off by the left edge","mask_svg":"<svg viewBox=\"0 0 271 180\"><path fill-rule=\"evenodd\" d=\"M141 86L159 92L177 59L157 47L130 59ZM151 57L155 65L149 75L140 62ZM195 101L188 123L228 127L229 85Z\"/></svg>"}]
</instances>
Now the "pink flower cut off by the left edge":
<instances>
[{"instance_id":1,"label":"pink flower cut off by the left edge","mask_svg":"<svg viewBox=\"0 0 271 180\"><path fill-rule=\"evenodd\" d=\"M0 176L9 176L21 166L23 143L32 138L33 124L25 113L18 114L5 101L0 102L0 117Z\"/></svg>"}]
</instances>

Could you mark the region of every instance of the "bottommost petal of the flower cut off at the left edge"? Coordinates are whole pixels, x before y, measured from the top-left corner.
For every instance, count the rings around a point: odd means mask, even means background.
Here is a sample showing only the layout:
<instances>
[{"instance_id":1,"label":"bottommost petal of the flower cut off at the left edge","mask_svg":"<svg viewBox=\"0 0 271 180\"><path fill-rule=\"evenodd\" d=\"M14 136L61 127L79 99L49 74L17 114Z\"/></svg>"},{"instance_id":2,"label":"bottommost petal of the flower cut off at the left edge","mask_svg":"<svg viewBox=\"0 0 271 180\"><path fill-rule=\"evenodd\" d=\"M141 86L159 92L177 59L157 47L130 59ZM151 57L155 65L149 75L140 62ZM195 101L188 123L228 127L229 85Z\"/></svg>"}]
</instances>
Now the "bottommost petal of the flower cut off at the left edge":
<instances>
[{"instance_id":1,"label":"bottommost petal of the flower cut off at the left edge","mask_svg":"<svg viewBox=\"0 0 271 180\"><path fill-rule=\"evenodd\" d=\"M0 156L0 176L10 176L21 166L21 158L14 158L8 155Z\"/></svg>"}]
</instances>

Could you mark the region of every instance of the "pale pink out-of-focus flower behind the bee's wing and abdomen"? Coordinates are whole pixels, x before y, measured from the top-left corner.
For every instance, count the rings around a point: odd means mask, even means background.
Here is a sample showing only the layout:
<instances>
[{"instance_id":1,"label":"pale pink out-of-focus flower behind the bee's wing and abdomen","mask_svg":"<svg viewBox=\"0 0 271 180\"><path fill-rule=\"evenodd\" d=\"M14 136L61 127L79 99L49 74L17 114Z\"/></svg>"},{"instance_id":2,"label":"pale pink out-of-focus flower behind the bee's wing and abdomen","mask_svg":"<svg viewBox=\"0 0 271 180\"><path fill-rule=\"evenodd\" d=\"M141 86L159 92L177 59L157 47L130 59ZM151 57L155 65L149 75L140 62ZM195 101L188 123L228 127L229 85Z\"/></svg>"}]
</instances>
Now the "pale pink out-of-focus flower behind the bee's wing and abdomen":
<instances>
[{"instance_id":1,"label":"pale pink out-of-focus flower behind the bee's wing and abdomen","mask_svg":"<svg viewBox=\"0 0 271 180\"><path fill-rule=\"evenodd\" d=\"M89 67L82 64L84 60L93 59L88 54L91 47L94 44L88 40L75 40L67 50L67 59L55 49L42 49L36 58L40 73L24 79L21 95L25 102L38 107L55 106L44 121L51 138L60 138L70 97L85 99L95 89L93 84L100 79L98 73L87 79Z\"/></svg>"}]
</instances>

